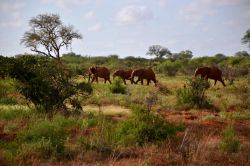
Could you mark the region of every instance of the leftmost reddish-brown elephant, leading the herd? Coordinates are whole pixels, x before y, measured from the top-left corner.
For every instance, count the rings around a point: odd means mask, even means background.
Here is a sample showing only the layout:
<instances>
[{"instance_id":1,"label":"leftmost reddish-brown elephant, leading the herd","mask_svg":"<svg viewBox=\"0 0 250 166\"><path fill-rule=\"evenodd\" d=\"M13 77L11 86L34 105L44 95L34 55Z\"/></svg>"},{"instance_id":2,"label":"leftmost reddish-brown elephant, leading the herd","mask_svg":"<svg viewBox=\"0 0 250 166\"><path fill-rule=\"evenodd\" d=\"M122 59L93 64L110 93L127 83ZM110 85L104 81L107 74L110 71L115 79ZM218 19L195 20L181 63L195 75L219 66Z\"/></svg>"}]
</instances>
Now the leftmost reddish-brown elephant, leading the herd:
<instances>
[{"instance_id":1,"label":"leftmost reddish-brown elephant, leading the herd","mask_svg":"<svg viewBox=\"0 0 250 166\"><path fill-rule=\"evenodd\" d=\"M100 78L104 78L104 83L106 84L106 81L108 81L111 84L110 81L110 71L109 69L107 69L106 67L96 67L96 66L92 66L89 68L89 81L90 81L90 77L92 76L92 82L94 82L94 80L96 80L96 82L98 83L98 77Z\"/></svg>"}]
</instances>

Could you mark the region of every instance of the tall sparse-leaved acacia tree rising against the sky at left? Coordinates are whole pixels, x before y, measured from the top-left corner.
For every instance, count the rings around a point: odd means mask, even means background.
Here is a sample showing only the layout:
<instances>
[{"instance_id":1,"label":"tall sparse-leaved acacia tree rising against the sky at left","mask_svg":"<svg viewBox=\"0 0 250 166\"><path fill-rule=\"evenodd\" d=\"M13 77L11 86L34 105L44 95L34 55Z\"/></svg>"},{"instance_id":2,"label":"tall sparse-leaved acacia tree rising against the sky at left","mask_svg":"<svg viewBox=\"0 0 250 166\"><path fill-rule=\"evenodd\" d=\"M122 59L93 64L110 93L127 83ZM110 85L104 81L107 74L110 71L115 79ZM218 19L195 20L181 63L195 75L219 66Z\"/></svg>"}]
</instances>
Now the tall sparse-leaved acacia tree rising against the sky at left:
<instances>
[{"instance_id":1,"label":"tall sparse-leaved acacia tree rising against the sky at left","mask_svg":"<svg viewBox=\"0 0 250 166\"><path fill-rule=\"evenodd\" d=\"M82 39L72 25L65 26L57 14L40 14L29 22L31 29L24 33L21 44L38 54L60 60L62 47L68 48L73 39Z\"/></svg>"}]
</instances>

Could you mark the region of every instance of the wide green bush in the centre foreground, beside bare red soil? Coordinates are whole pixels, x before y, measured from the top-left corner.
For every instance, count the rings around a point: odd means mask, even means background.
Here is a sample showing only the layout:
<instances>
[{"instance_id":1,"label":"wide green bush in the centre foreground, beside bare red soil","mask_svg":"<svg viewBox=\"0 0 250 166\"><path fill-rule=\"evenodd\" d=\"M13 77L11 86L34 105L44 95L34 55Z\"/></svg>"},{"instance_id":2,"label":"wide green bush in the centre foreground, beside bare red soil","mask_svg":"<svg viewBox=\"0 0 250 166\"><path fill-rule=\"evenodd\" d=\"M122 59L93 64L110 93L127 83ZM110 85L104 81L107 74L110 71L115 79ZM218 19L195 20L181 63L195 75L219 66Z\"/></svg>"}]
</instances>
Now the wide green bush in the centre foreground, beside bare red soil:
<instances>
[{"instance_id":1,"label":"wide green bush in the centre foreground, beside bare red soil","mask_svg":"<svg viewBox=\"0 0 250 166\"><path fill-rule=\"evenodd\" d=\"M116 129L117 143L122 146L157 143L174 136L175 132L173 125L143 109L134 110L133 115Z\"/></svg>"}]
</instances>

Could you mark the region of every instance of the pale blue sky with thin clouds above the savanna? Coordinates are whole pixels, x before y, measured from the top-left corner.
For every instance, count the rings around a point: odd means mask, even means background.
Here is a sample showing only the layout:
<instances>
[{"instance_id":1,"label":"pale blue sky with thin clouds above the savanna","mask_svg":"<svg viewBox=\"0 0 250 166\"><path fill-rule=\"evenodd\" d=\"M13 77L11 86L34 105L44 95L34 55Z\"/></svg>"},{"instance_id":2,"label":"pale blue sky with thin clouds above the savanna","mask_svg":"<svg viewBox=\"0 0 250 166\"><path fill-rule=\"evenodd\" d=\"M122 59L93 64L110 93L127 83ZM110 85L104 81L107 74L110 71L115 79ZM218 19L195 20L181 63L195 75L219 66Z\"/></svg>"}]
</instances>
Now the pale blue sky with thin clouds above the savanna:
<instances>
[{"instance_id":1,"label":"pale blue sky with thin clouds above the savanna","mask_svg":"<svg viewBox=\"0 0 250 166\"><path fill-rule=\"evenodd\" d=\"M20 44L38 14L58 14L83 39L71 48L83 56L146 55L151 45L195 57L250 51L250 0L0 0L0 55L31 53Z\"/></svg>"}]
</instances>

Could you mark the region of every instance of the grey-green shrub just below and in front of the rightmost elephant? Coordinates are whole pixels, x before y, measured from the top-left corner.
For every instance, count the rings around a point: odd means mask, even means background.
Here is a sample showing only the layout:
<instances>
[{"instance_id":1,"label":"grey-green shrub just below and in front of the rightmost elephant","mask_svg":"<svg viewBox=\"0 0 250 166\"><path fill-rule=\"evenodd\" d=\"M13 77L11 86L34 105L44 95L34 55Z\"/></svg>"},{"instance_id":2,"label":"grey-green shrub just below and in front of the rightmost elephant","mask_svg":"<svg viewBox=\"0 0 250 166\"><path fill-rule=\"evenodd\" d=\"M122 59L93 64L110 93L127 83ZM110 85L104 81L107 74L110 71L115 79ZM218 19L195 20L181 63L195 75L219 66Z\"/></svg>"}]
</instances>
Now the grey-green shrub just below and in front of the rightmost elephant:
<instances>
[{"instance_id":1,"label":"grey-green shrub just below and in front of the rightmost elephant","mask_svg":"<svg viewBox=\"0 0 250 166\"><path fill-rule=\"evenodd\" d=\"M202 78L188 79L184 88L177 90L177 104L186 108L209 108L205 92L209 87L206 80Z\"/></svg>"}]
</instances>

